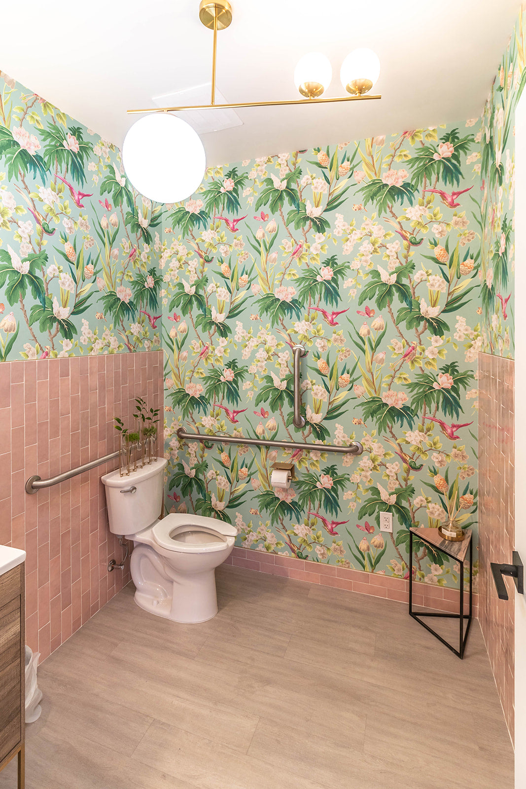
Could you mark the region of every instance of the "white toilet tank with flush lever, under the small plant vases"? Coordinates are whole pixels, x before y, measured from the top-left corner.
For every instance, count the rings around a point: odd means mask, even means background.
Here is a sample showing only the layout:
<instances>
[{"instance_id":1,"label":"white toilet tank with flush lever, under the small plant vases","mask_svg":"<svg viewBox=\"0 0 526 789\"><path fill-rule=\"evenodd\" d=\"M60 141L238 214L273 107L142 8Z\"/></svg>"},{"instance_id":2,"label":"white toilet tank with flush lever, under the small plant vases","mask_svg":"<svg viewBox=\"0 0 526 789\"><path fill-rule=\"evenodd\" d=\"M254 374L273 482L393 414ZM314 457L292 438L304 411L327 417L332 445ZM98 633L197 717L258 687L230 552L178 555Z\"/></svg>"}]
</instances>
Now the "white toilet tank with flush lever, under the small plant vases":
<instances>
[{"instance_id":1,"label":"white toilet tank with flush lever, under the small plant vases","mask_svg":"<svg viewBox=\"0 0 526 789\"><path fill-rule=\"evenodd\" d=\"M102 477L110 532L136 534L159 518L162 510L166 458L121 477L119 469Z\"/></svg>"}]
</instances>

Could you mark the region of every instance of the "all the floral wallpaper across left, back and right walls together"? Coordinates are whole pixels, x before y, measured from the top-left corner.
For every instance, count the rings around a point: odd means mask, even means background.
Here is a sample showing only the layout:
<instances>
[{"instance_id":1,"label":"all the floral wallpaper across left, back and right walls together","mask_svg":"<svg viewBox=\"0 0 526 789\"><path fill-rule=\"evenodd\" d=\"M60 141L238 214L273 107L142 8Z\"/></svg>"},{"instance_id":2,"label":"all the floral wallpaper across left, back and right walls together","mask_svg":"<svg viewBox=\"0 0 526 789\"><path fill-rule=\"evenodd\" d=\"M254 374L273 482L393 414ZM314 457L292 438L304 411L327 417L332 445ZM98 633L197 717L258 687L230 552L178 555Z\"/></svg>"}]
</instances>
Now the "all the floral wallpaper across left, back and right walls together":
<instances>
[{"instance_id":1,"label":"all the floral wallpaper across left, back and right walls together","mask_svg":"<svg viewBox=\"0 0 526 789\"><path fill-rule=\"evenodd\" d=\"M410 525L476 524L477 353L513 354L524 79L520 17L482 125L210 168L165 209L118 148L0 73L0 359L162 343L169 509L233 522L247 548L407 578ZM319 450L186 444L181 424ZM323 451L354 439L360 458ZM291 458L297 481L272 488ZM417 578L457 574L416 542Z\"/></svg>"}]
</instances>

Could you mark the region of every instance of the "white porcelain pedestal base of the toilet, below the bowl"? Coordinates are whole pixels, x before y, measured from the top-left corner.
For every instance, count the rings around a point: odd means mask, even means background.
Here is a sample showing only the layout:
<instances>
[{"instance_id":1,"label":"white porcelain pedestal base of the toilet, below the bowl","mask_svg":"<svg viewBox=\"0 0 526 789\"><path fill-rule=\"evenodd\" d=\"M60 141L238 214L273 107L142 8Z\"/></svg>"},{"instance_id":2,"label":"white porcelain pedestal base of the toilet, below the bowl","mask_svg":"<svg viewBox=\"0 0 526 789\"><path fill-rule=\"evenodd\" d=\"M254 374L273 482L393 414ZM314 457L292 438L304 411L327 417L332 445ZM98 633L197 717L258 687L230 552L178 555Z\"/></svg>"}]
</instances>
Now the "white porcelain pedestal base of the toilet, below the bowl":
<instances>
[{"instance_id":1,"label":"white porcelain pedestal base of the toilet, below the bowl","mask_svg":"<svg viewBox=\"0 0 526 789\"><path fill-rule=\"evenodd\" d=\"M215 568L181 572L148 545L139 544L130 559L135 601L144 611L182 624L213 619L218 612Z\"/></svg>"}]
</instances>

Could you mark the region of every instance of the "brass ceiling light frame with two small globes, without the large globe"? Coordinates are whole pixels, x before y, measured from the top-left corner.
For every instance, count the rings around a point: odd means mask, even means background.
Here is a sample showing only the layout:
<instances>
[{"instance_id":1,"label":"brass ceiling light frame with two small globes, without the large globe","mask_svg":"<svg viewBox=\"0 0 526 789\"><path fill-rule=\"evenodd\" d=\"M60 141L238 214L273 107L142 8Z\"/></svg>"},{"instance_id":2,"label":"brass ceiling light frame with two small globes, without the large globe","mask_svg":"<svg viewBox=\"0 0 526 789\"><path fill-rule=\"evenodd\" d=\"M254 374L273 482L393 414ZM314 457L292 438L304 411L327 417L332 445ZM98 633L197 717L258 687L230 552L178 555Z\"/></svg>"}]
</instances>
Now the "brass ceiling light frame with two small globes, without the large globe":
<instances>
[{"instance_id":1,"label":"brass ceiling light frame with two small globes, without the large globe","mask_svg":"<svg viewBox=\"0 0 526 789\"><path fill-rule=\"evenodd\" d=\"M319 97L328 88L332 77L329 59L317 52L304 55L297 63L294 82L304 99L287 101L238 102L231 104L215 103L215 73L217 61L218 30L225 30L232 22L232 6L228 0L201 0L199 18L205 28L214 32L212 43L212 85L210 104L196 104L185 107L148 107L144 110L128 110L129 114L177 112L180 110L235 110L244 107L288 107L297 104L330 104L336 102L360 101L363 99L381 99L380 95L368 92L379 77L379 59L371 50L355 50L345 58L341 66L341 83L351 95L337 96L331 99Z\"/></svg>"}]
</instances>

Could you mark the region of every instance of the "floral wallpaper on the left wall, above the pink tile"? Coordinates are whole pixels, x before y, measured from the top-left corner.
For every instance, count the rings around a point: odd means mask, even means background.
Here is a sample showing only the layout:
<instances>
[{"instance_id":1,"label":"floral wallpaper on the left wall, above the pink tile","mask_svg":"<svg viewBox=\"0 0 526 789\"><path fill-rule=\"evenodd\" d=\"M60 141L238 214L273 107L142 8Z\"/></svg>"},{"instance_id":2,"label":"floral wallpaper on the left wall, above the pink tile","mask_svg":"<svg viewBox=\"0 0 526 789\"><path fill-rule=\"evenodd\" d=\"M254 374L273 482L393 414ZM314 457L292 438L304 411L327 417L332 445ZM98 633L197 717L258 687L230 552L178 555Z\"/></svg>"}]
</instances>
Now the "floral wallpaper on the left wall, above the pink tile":
<instances>
[{"instance_id":1,"label":"floral wallpaper on the left wall, above the pink tile","mask_svg":"<svg viewBox=\"0 0 526 789\"><path fill-rule=\"evenodd\" d=\"M0 73L0 361L159 346L161 224L118 148Z\"/></svg>"}]
</instances>

